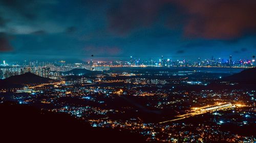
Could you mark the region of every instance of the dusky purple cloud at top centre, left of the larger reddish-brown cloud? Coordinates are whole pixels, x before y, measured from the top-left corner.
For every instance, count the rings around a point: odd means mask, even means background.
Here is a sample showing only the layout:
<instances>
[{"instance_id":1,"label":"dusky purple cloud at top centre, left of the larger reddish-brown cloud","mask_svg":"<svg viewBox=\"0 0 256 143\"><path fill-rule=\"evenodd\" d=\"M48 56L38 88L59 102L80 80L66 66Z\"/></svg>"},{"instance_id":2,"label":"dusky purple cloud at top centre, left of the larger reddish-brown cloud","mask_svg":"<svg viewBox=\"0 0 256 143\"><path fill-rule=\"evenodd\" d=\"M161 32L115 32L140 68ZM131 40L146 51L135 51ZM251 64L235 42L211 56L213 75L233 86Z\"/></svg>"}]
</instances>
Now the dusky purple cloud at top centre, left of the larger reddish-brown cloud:
<instances>
[{"instance_id":1,"label":"dusky purple cloud at top centre, left of the larger reddish-brown cloud","mask_svg":"<svg viewBox=\"0 0 256 143\"><path fill-rule=\"evenodd\" d=\"M111 30L118 33L127 33L138 27L151 25L156 16L162 1L124 0L113 4L108 13Z\"/></svg>"}]
</instances>

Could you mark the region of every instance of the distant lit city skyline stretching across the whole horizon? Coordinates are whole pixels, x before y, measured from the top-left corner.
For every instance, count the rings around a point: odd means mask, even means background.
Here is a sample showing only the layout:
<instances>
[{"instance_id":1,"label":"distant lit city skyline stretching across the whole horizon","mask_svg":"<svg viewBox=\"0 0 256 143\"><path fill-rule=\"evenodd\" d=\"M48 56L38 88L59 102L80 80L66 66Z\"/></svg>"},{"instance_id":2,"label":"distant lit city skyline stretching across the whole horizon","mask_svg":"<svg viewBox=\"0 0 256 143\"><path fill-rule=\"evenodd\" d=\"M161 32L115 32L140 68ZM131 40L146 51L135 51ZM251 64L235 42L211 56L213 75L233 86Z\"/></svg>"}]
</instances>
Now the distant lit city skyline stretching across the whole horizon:
<instances>
[{"instance_id":1,"label":"distant lit city skyline stretching across the whole horizon","mask_svg":"<svg viewBox=\"0 0 256 143\"><path fill-rule=\"evenodd\" d=\"M93 56L92 56L93 57ZM254 57L255 58L255 57ZM115 67L155 67L158 70L162 68L172 69L172 68L253 68L256 66L255 59L252 60L234 60L232 55L229 55L228 60L216 59L213 56L211 59L204 60L198 58L196 61L190 60L171 60L166 59L162 55L161 58L157 60L143 60L140 58L134 58L130 56L130 59L127 61L93 61L88 62L66 62L66 61L22 61L22 62L10 62L3 61L3 64L0 64L0 79L5 79L15 75L25 74L31 72L33 74L47 77L51 79L60 79L63 75L63 72L72 71L74 69L85 69L90 71L110 71L111 68ZM195 69L196 71L198 69ZM73 73L71 73L73 74ZM69 75L69 74L67 74ZM80 74L82 75L82 74Z\"/></svg>"}]
</instances>

